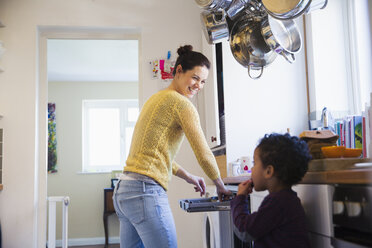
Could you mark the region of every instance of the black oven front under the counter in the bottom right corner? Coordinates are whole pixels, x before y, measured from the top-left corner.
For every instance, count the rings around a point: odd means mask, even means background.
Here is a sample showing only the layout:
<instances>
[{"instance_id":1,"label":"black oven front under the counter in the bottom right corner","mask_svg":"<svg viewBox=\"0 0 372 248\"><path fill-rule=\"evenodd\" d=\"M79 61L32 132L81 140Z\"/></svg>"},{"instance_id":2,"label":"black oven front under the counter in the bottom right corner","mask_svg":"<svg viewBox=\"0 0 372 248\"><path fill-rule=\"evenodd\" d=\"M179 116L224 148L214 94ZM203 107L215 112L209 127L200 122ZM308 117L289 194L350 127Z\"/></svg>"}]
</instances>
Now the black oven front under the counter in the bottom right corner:
<instances>
[{"instance_id":1,"label":"black oven front under the counter in the bottom right corner","mask_svg":"<svg viewBox=\"0 0 372 248\"><path fill-rule=\"evenodd\" d=\"M336 185L333 195L334 248L372 247L372 186Z\"/></svg>"}]
</instances>

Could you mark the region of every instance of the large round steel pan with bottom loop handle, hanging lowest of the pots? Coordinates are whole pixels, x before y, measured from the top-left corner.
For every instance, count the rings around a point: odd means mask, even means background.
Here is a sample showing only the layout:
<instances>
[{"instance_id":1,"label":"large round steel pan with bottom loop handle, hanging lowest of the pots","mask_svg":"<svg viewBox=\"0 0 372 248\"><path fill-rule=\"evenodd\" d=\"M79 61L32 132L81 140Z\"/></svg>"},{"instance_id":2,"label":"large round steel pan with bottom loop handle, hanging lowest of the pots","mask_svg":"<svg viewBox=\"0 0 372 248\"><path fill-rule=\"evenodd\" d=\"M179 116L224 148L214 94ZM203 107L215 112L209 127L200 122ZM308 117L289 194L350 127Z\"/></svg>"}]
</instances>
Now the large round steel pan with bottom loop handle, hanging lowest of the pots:
<instances>
[{"instance_id":1,"label":"large round steel pan with bottom loop handle, hanging lowest of the pots","mask_svg":"<svg viewBox=\"0 0 372 248\"><path fill-rule=\"evenodd\" d=\"M248 68L248 75L253 79L262 76L263 69L271 64L277 56L266 44L261 34L261 19L242 16L230 33L230 49L234 58ZM251 70L258 71L253 77Z\"/></svg>"}]
</instances>

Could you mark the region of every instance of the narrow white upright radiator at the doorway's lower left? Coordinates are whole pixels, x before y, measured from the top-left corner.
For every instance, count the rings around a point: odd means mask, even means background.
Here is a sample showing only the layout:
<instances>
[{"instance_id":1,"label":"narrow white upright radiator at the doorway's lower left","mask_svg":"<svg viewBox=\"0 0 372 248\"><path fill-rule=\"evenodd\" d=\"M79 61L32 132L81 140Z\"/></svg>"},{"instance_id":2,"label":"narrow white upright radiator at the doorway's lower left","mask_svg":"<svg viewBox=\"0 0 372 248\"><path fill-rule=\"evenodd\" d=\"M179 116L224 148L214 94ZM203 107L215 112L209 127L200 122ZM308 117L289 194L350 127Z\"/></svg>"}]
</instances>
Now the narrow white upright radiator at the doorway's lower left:
<instances>
[{"instance_id":1,"label":"narrow white upright radiator at the doorway's lower left","mask_svg":"<svg viewBox=\"0 0 372 248\"><path fill-rule=\"evenodd\" d=\"M67 248L67 226L68 226L68 196L50 196L49 201L49 222L48 222L48 248L56 247L56 205L62 202L62 248Z\"/></svg>"}]
</instances>

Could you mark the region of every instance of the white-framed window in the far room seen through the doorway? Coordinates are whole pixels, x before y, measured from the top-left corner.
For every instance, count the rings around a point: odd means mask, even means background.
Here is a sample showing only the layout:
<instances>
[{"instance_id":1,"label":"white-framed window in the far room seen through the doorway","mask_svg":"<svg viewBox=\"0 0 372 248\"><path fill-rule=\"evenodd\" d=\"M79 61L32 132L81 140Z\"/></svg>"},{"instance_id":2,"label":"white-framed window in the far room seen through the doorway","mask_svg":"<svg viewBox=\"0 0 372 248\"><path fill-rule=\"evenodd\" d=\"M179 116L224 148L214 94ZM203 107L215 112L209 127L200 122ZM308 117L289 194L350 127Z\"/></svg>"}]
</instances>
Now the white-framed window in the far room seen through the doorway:
<instances>
[{"instance_id":1,"label":"white-framed window in the far room seen through the doorway","mask_svg":"<svg viewBox=\"0 0 372 248\"><path fill-rule=\"evenodd\" d=\"M123 169L138 114L137 100L83 101L83 172Z\"/></svg>"}]
</instances>

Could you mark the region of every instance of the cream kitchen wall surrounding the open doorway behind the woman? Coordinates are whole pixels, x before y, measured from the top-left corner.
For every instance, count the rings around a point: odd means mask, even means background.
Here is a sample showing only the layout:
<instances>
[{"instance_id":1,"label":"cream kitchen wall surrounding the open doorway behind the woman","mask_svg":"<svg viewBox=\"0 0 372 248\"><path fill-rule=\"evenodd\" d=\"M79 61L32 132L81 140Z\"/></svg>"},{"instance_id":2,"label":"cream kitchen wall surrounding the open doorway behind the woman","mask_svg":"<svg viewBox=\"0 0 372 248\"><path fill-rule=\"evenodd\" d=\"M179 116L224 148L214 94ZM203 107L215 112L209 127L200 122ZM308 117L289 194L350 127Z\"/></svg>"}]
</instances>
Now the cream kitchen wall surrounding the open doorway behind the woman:
<instances>
[{"instance_id":1,"label":"cream kitchen wall surrounding the open doorway behind the woman","mask_svg":"<svg viewBox=\"0 0 372 248\"><path fill-rule=\"evenodd\" d=\"M45 157L38 157L37 137L39 131L44 134L46 130L45 123L37 122L37 103L38 94L46 89L38 89L38 27L139 28L139 95L143 102L164 86L163 82L151 80L149 61L164 58L168 50L175 56L176 48L182 44L190 43L200 50L199 13L194 1L185 0L0 0L1 21L6 25L0 29L0 38L7 49L0 61L5 69L0 74L0 113L4 115L0 120L4 128L0 220L4 247L45 247L45 166L40 165L42 171L38 169L38 161ZM39 130L38 125L43 129ZM185 142L177 160L202 175L191 153ZM191 186L178 179L170 185L179 247L201 247L201 215L186 214L178 206L180 198L197 197L192 191Z\"/></svg>"}]
</instances>

